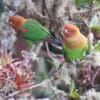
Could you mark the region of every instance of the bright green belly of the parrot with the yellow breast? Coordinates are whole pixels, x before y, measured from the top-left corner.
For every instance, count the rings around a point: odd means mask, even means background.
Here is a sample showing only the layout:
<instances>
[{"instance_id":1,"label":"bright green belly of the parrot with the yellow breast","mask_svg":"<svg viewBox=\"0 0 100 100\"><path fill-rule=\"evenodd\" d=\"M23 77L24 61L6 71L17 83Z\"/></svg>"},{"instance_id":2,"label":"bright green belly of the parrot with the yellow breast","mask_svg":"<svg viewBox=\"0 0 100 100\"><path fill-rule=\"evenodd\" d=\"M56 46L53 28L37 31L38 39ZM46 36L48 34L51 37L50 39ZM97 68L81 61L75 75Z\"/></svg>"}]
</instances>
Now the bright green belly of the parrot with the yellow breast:
<instances>
[{"instance_id":1,"label":"bright green belly of the parrot with the yellow breast","mask_svg":"<svg viewBox=\"0 0 100 100\"><path fill-rule=\"evenodd\" d=\"M85 55L86 48L70 49L63 43L63 54L66 60L72 61Z\"/></svg>"}]
</instances>

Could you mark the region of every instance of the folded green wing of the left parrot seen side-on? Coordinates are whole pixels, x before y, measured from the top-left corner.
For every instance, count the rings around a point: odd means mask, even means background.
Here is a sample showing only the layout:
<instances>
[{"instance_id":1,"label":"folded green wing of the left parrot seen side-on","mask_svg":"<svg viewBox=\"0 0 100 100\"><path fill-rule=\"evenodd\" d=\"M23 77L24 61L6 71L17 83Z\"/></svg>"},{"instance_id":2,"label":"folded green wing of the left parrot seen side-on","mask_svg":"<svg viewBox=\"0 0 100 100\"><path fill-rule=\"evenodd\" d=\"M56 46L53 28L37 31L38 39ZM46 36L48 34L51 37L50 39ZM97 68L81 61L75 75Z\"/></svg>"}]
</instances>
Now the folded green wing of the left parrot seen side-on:
<instances>
[{"instance_id":1,"label":"folded green wing of the left parrot seen side-on","mask_svg":"<svg viewBox=\"0 0 100 100\"><path fill-rule=\"evenodd\" d=\"M50 32L34 19L27 19L20 29L27 30L26 32L22 31L20 35L33 42L43 41L50 35Z\"/></svg>"}]
</instances>

